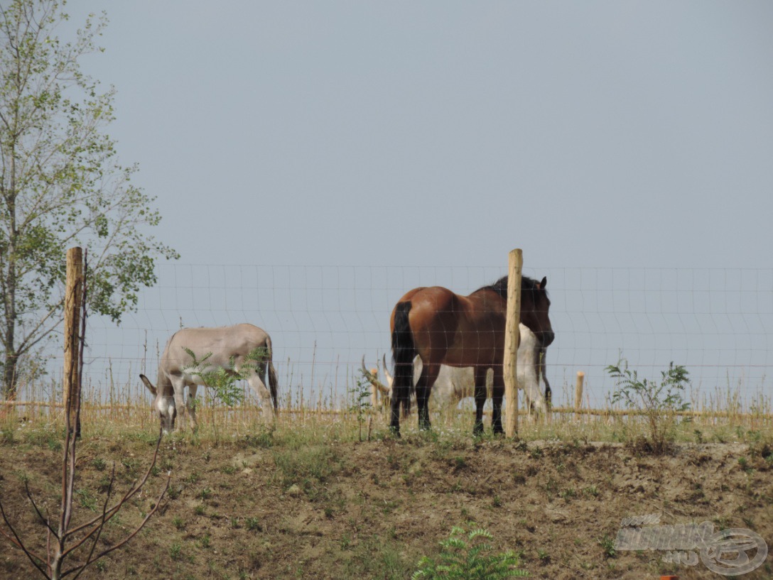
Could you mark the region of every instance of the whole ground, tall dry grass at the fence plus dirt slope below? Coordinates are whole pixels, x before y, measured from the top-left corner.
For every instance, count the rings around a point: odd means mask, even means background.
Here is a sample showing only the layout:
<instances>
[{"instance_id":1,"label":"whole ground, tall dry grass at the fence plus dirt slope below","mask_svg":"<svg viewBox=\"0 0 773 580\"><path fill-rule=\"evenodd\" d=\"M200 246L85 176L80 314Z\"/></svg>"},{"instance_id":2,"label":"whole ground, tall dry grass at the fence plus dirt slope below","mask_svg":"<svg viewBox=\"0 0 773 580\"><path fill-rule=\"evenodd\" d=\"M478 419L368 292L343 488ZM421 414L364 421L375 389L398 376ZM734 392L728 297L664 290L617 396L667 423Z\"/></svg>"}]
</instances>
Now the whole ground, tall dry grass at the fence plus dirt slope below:
<instances>
[{"instance_id":1,"label":"whole ground, tall dry grass at the fence plus dirt slope below","mask_svg":"<svg viewBox=\"0 0 773 580\"><path fill-rule=\"evenodd\" d=\"M36 497L56 503L63 422L53 391L28 389L26 398L34 395L44 405L5 407L0 418L4 505L32 537L41 536L41 527L19 478L32 482ZM104 392L87 388L84 396L82 514L98 504L112 463L121 489L131 485L158 429L141 388ZM766 538L773 529L773 427L761 411L769 409L762 397L752 411L729 393L706 409L713 414L683 417L677 438L686 444L656 457L618 444L646 429L619 409L523 417L518 442L490 429L474 439L469 410L435 415L430 432L419 431L413 415L396 441L386 413L352 409L356 392L338 401L335 393L325 395L332 404L325 397L309 404L301 395L300 388L285 395L271 426L249 400L237 409L205 400L198 432L164 439L149 496L127 506L106 541L141 518L171 470L162 512L89 574L105 580L410 578L452 525L474 520L492 531L498 550L522 554L533 577L642 578L672 570L665 554L610 555L604 541L614 538L622 517L657 512L666 523L708 519L718 528L751 527ZM28 564L6 548L0 580L19 578ZM706 572L679 570L683 578ZM750 578L771 572L761 568Z\"/></svg>"}]
</instances>

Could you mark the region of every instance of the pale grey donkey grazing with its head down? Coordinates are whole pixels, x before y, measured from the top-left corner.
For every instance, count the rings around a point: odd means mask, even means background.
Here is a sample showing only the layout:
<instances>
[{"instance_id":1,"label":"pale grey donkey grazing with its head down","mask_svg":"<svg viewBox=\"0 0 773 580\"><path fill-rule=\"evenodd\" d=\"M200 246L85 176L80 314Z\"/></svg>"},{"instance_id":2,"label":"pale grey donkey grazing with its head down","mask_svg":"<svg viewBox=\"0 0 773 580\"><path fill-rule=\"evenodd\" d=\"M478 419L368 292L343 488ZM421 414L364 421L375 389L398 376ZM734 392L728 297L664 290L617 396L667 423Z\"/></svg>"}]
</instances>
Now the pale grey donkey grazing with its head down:
<instances>
[{"instance_id":1,"label":"pale grey donkey grazing with its head down","mask_svg":"<svg viewBox=\"0 0 773 580\"><path fill-rule=\"evenodd\" d=\"M192 404L196 389L198 385L206 385L203 375L220 368L245 378L261 399L265 418L273 419L278 404L278 380L271 361L271 337L253 324L183 328L172 334L166 343L158 362L157 385L153 385L145 375L140 375L141 381L155 397L153 405L165 432L175 427L178 410L181 415L178 429L183 429L186 408L193 426L198 426L196 408ZM271 392L266 388L266 370ZM184 406L186 387L189 388L189 395Z\"/></svg>"}]
</instances>

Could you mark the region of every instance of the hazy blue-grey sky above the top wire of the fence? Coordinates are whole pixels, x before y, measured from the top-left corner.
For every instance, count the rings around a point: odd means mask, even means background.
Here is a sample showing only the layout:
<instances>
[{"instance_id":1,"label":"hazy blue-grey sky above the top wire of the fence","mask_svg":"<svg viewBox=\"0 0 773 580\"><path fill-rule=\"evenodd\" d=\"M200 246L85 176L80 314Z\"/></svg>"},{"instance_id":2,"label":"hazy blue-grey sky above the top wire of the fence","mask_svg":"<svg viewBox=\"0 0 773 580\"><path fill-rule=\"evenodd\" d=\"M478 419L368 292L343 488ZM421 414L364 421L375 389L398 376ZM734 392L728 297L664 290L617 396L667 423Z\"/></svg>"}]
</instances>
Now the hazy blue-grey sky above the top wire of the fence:
<instances>
[{"instance_id":1,"label":"hazy blue-grey sky above the top wire of the fence","mask_svg":"<svg viewBox=\"0 0 773 580\"><path fill-rule=\"evenodd\" d=\"M183 262L771 265L771 2L102 8Z\"/></svg>"}]
</instances>

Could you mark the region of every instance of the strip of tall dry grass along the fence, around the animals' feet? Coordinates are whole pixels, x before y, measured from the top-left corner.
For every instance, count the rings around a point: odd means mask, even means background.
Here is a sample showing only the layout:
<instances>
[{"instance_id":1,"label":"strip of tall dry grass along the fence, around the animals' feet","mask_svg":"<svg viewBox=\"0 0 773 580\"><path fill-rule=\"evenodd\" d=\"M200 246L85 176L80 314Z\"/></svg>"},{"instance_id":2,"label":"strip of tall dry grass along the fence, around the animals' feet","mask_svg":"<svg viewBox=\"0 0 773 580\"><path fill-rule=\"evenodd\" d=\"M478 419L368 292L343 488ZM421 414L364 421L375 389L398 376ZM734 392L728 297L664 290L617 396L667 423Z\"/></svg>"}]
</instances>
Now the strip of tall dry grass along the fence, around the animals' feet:
<instances>
[{"instance_id":1,"label":"strip of tall dry grass along the fence, around the animals' feet","mask_svg":"<svg viewBox=\"0 0 773 580\"><path fill-rule=\"evenodd\" d=\"M345 440L383 438L386 432L386 409L357 409L361 399L356 381L346 379L344 392L329 388L287 389L281 395L280 415L274 426L276 432L295 432L303 426L309 437L335 432ZM554 400L549 415L519 416L519 439L525 441L594 441L608 443L635 442L645 436L645 418L636 412L607 405L604 409L574 409L574 394L564 385L554 389L554 397L563 392L564 400ZM0 429L5 432L19 428L56 425L62 414L61 393L56 385L25 385L19 390L21 401L0 404ZM744 443L744 433L773 433L771 397L763 392L747 394L737 385L731 388L691 394L691 410L677 413L676 442L687 443ZM265 429L260 408L247 390L242 405L227 408L208 397L208 389L199 388L199 424L197 436L216 442L220 438L239 438ZM112 380L107 385L85 385L82 421L100 436L111 433L152 431L158 424L150 405L150 395L137 382L117 386ZM472 432L472 400L462 402L455 412L434 413L432 422L437 436L468 438ZM414 415L404 419L404 432L417 430Z\"/></svg>"}]
</instances>

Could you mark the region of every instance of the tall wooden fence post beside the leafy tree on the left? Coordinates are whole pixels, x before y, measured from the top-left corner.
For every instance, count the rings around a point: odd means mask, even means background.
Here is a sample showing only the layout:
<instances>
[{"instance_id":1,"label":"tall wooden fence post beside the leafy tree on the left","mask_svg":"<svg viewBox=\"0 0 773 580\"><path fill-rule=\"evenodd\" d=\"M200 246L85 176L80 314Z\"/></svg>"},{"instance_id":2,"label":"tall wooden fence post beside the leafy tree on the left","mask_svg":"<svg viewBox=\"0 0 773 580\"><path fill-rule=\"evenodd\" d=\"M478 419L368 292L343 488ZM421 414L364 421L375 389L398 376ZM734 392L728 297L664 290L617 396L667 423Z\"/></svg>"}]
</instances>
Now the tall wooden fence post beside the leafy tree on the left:
<instances>
[{"instance_id":1,"label":"tall wooden fence post beside the leafy tree on the left","mask_svg":"<svg viewBox=\"0 0 773 580\"><path fill-rule=\"evenodd\" d=\"M83 250L67 250L64 294L64 409L68 429L77 429L75 411L80 401L80 308L83 298Z\"/></svg>"}]
</instances>

